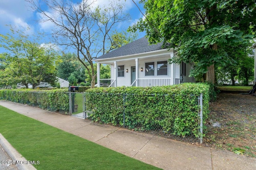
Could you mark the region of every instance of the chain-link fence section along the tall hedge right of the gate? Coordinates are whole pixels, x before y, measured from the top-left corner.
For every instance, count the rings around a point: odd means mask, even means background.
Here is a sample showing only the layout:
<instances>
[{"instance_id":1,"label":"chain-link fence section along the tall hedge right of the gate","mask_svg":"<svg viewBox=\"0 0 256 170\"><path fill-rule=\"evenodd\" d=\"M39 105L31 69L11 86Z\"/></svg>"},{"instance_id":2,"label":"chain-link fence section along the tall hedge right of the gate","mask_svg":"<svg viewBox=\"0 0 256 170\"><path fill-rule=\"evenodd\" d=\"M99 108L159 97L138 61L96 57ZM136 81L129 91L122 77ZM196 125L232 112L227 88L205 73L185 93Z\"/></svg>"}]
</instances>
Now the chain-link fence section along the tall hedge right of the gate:
<instances>
[{"instance_id":1,"label":"chain-link fence section along the tall hedge right of the gate","mask_svg":"<svg viewBox=\"0 0 256 170\"><path fill-rule=\"evenodd\" d=\"M199 142L202 143L202 94L200 96L184 96L190 100L189 105L183 103L175 95L144 95L143 101L136 101L134 94L103 93L96 95L99 101L105 99L112 99L112 101L101 101L100 105L91 103L90 94L86 93L85 113L86 117L92 121L180 141L196 142L199 139ZM166 105L166 103L168 104ZM179 103L180 107L172 107L174 103ZM195 126L190 127L193 125ZM186 132L192 128L197 129L198 139L190 132L179 134L179 130ZM185 136L186 138L184 138Z\"/></svg>"}]
</instances>

